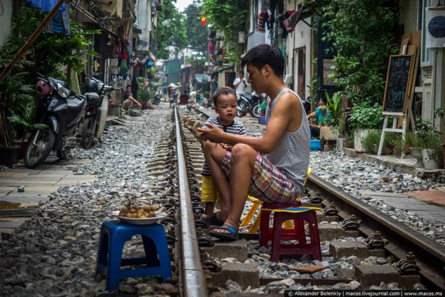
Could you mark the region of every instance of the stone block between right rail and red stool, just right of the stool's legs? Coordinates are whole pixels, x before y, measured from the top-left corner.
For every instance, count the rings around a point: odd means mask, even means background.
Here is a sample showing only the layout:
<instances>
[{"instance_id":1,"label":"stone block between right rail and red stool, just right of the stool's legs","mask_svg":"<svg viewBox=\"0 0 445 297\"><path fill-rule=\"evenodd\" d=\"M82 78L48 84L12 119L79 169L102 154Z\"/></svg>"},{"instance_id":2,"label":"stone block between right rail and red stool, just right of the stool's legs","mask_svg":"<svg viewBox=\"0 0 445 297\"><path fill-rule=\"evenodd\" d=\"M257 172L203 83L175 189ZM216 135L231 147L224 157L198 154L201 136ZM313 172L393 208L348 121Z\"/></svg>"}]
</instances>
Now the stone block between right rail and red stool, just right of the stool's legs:
<instances>
[{"instance_id":1,"label":"stone block between right rail and red stool, just right of the stool's legs","mask_svg":"<svg viewBox=\"0 0 445 297\"><path fill-rule=\"evenodd\" d=\"M385 250L370 250L362 242L332 242L329 250L335 261L350 255L355 255L361 260L367 257L385 257Z\"/></svg>"}]
</instances>

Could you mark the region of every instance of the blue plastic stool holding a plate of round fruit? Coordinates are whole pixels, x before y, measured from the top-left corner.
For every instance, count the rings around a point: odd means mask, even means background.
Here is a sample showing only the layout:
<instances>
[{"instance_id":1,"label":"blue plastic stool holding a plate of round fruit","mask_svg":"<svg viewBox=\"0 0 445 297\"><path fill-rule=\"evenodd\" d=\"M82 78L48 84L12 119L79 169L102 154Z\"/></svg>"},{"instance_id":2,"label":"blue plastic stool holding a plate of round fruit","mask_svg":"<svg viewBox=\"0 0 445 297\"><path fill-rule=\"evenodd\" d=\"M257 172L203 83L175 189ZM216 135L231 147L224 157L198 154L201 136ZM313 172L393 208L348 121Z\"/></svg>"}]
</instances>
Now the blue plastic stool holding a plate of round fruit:
<instances>
[{"instance_id":1,"label":"blue plastic stool holding a plate of round fruit","mask_svg":"<svg viewBox=\"0 0 445 297\"><path fill-rule=\"evenodd\" d=\"M142 236L145 257L122 259L124 244L133 235ZM121 265L143 267L122 269ZM120 220L106 220L100 230L96 273L105 275L108 291L118 290L121 278L162 275L166 282L172 277L172 268L163 225L130 225Z\"/></svg>"}]
</instances>

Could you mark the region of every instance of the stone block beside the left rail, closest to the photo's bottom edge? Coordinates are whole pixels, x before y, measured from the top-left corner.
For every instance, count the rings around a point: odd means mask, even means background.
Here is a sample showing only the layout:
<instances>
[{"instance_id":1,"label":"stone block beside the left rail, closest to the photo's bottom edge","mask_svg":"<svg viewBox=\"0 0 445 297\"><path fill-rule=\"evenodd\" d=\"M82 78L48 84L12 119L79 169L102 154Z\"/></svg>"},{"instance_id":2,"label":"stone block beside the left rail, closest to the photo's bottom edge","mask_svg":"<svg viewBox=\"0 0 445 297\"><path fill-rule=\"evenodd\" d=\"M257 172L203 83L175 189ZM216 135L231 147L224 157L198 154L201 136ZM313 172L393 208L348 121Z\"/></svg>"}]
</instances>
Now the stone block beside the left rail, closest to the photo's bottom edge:
<instances>
[{"instance_id":1,"label":"stone block beside the left rail, closest to the photo's bottom edge","mask_svg":"<svg viewBox=\"0 0 445 297\"><path fill-rule=\"evenodd\" d=\"M253 264L243 263L223 263L223 270L219 273L211 273L213 280L209 280L212 284L225 289L225 282L233 280L239 284L243 290L249 286L252 288L259 287L259 271L258 267Z\"/></svg>"}]
</instances>

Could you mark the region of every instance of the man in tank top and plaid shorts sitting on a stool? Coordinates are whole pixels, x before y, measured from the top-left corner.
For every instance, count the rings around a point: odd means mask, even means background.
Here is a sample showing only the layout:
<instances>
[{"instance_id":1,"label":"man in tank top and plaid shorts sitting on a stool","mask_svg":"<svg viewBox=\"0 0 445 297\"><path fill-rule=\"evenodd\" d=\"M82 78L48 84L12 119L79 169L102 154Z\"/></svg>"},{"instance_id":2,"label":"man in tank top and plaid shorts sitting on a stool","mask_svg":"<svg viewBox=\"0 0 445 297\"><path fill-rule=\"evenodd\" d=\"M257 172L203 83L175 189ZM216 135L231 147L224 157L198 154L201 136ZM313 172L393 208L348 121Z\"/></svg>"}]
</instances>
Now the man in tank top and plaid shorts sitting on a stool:
<instances>
[{"instance_id":1,"label":"man in tank top and plaid shorts sitting on a stool","mask_svg":"<svg viewBox=\"0 0 445 297\"><path fill-rule=\"evenodd\" d=\"M215 215L225 221L210 234L226 241L238 239L248 194L264 202L295 201L304 190L309 165L309 125L301 99L284 84L281 51L258 45L245 55L244 65L255 92L270 97L264 136L226 134L210 124L204 124L209 129L198 129L208 141L204 156L221 197Z\"/></svg>"}]
</instances>

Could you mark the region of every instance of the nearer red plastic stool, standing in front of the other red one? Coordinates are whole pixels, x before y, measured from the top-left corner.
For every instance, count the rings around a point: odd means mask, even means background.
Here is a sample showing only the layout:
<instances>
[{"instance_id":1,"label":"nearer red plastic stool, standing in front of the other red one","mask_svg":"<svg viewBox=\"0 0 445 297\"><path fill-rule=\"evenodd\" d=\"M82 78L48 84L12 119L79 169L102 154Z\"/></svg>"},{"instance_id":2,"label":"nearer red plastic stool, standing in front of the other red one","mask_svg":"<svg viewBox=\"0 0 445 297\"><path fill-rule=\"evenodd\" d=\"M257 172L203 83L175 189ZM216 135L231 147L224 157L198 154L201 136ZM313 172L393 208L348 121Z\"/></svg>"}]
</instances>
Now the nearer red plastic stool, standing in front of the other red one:
<instances>
[{"instance_id":1,"label":"nearer red plastic stool, standing in front of the other red one","mask_svg":"<svg viewBox=\"0 0 445 297\"><path fill-rule=\"evenodd\" d=\"M286 220L298 220L298 229L300 226L304 226L305 221L309 224L309 237L311 241L306 242L306 235L303 230L301 240L300 234L294 234L290 240L298 240L296 244L282 244L284 239L282 232L282 223ZM297 223L297 222L296 222ZM296 224L294 223L294 224ZM297 225L296 225L297 226ZM304 227L303 227L304 228ZM291 237L291 234L286 238ZM289 240L289 239L286 239ZM273 240L272 240L272 252L270 252L270 261L279 262L281 255L302 255L310 254L314 260L321 261L321 248L320 248L320 235L318 234L318 222L315 210L308 210L298 213L290 212L277 212L273 214Z\"/></svg>"}]
</instances>

